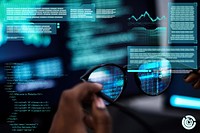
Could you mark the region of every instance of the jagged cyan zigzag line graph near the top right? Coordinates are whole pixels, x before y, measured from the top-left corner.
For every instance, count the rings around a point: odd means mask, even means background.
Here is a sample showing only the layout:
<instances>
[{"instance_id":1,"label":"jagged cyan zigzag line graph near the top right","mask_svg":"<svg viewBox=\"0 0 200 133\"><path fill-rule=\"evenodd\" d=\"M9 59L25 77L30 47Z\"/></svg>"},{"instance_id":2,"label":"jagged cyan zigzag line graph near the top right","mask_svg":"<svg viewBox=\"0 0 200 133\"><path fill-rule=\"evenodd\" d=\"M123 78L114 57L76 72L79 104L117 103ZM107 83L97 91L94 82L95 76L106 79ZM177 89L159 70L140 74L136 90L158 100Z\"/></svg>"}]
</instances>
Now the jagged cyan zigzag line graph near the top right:
<instances>
[{"instance_id":1,"label":"jagged cyan zigzag line graph near the top right","mask_svg":"<svg viewBox=\"0 0 200 133\"><path fill-rule=\"evenodd\" d=\"M152 22L161 21L161 20L165 20L165 19L166 19L166 16L156 17L155 19L153 19L153 18L151 17L151 15L150 15L147 11L145 11L145 13L144 13L144 14L141 14L140 17L136 18L134 15L132 15L130 18L128 18L128 20L130 21L130 20L134 19L136 22L138 22L139 20L141 20L142 18L145 18L146 16L148 16L149 19L150 19Z\"/></svg>"}]
</instances>

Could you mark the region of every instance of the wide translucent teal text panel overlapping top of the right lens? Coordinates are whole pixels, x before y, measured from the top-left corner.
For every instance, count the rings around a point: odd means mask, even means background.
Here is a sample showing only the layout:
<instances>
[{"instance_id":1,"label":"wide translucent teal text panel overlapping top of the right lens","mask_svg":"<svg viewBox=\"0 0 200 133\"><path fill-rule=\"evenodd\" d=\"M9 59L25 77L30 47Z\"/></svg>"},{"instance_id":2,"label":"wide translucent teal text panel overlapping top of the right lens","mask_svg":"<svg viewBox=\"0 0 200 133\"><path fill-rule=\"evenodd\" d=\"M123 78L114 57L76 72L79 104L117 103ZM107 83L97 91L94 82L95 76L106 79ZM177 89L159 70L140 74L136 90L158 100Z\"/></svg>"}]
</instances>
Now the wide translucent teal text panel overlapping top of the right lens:
<instances>
[{"instance_id":1,"label":"wide translucent teal text panel overlapping top of the right lens","mask_svg":"<svg viewBox=\"0 0 200 133\"><path fill-rule=\"evenodd\" d=\"M197 69L197 46L128 46L129 72L160 59L168 60L175 70Z\"/></svg>"}]
</instances>

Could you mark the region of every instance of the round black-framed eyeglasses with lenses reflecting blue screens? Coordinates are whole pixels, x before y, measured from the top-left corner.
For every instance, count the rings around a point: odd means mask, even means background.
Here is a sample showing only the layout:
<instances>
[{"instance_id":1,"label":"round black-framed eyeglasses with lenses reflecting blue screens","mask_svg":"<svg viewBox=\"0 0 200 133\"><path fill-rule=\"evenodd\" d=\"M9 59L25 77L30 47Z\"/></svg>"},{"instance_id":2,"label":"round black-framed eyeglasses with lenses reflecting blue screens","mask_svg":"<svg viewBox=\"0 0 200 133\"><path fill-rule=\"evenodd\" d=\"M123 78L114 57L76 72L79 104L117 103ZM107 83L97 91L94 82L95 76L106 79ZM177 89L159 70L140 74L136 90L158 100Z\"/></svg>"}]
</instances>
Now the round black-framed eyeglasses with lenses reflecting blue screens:
<instances>
[{"instance_id":1,"label":"round black-framed eyeglasses with lenses reflecting blue screens","mask_svg":"<svg viewBox=\"0 0 200 133\"><path fill-rule=\"evenodd\" d=\"M101 95L108 102L114 102L121 95L127 84L127 66L101 64L87 71L81 80L103 85ZM171 65L166 59L154 60L140 65L135 70L135 81L147 95L159 95L164 92L171 81Z\"/></svg>"}]
</instances>

